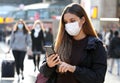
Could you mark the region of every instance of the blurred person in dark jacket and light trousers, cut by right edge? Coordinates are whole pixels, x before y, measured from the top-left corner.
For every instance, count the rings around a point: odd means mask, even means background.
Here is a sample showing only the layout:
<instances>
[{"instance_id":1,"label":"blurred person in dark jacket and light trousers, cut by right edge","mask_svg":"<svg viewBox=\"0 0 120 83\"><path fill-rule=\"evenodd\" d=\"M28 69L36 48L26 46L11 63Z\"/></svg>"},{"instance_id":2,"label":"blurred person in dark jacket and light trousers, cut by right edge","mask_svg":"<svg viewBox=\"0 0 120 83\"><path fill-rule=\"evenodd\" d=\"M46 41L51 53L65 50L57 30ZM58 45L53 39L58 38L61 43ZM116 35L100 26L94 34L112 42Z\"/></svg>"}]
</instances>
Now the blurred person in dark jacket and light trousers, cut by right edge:
<instances>
[{"instance_id":1,"label":"blurred person in dark jacket and light trousers, cut by right edge","mask_svg":"<svg viewBox=\"0 0 120 83\"><path fill-rule=\"evenodd\" d=\"M110 41L110 46L108 49L109 58L111 58L111 64L109 72L112 73L114 62L117 62L117 75L120 75L120 37L119 32L114 32L114 37Z\"/></svg>"}]
</instances>

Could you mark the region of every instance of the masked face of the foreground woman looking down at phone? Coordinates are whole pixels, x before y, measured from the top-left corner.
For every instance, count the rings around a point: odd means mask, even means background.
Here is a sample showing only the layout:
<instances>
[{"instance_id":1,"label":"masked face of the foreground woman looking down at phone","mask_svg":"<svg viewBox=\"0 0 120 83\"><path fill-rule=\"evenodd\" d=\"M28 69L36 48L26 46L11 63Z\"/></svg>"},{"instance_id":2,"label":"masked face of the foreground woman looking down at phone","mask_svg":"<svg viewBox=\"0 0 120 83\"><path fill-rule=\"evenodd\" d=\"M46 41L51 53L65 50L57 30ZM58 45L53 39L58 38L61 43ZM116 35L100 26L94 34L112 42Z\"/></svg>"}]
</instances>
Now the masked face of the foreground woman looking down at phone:
<instances>
[{"instance_id":1,"label":"masked face of the foreground woman looking down at phone","mask_svg":"<svg viewBox=\"0 0 120 83\"><path fill-rule=\"evenodd\" d=\"M82 31L82 25L85 22L84 17L79 18L75 14L66 13L64 14L63 18L65 30L68 32L68 34L71 36L78 36Z\"/></svg>"}]
</instances>

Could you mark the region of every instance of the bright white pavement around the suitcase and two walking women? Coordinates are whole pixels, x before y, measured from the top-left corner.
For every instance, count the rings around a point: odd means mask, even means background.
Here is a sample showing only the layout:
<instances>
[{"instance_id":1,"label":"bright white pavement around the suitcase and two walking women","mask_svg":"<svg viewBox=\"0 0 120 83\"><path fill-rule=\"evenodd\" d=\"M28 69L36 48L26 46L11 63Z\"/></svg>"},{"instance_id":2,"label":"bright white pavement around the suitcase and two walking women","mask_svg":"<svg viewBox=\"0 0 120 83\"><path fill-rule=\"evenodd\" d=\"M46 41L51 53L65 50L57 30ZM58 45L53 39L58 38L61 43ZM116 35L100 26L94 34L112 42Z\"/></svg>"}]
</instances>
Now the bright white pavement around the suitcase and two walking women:
<instances>
[{"instance_id":1,"label":"bright white pavement around the suitcase and two walking women","mask_svg":"<svg viewBox=\"0 0 120 83\"><path fill-rule=\"evenodd\" d=\"M0 71L1 71L1 63L4 59L14 59L12 56L12 53L5 54L8 51L8 46L4 43L0 43ZM44 55L41 55L41 59L44 58ZM24 80L21 80L19 83L35 83L36 76L39 73L39 71L34 72L34 64L33 60L28 60L28 57L25 57L24 60ZM15 73L14 78L2 78L1 72L0 72L0 83L18 83L17 81L17 75Z\"/></svg>"}]
</instances>

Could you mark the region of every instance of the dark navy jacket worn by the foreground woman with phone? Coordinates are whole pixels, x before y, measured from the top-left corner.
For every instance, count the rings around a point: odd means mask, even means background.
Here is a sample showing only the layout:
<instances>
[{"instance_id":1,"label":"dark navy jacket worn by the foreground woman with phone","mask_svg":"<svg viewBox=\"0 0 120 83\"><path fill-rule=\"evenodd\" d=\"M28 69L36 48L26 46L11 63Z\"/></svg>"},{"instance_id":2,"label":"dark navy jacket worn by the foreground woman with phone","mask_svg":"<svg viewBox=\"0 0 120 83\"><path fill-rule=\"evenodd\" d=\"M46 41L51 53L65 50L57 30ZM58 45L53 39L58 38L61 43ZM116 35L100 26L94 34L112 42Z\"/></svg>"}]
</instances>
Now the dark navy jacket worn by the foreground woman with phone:
<instances>
[{"instance_id":1,"label":"dark navy jacket worn by the foreground woman with phone","mask_svg":"<svg viewBox=\"0 0 120 83\"><path fill-rule=\"evenodd\" d=\"M89 37L86 52L87 55L82 57L81 64L76 66L73 73L76 80L79 83L103 83L107 69L107 55L103 43L95 37ZM46 77L50 77L55 69L55 67L49 68L44 63L40 68L40 72Z\"/></svg>"}]
</instances>

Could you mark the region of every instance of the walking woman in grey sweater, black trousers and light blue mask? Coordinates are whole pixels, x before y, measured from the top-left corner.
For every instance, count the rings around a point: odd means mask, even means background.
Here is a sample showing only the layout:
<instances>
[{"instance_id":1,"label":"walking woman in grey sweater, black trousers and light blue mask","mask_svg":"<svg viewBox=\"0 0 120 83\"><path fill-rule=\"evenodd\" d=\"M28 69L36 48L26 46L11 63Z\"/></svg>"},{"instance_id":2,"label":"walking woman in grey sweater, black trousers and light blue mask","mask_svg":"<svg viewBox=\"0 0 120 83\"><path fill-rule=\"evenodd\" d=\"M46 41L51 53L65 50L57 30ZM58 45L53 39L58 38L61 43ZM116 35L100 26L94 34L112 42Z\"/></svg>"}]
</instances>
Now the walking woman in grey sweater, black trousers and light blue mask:
<instances>
[{"instance_id":1,"label":"walking woman in grey sweater, black trousers and light blue mask","mask_svg":"<svg viewBox=\"0 0 120 83\"><path fill-rule=\"evenodd\" d=\"M13 28L10 40L10 49L12 49L12 53L15 59L18 81L20 80L20 73L22 75L22 79L24 79L24 59L27 47L31 49L32 41L29 34L29 29L27 28L25 22L20 19Z\"/></svg>"}]
</instances>

